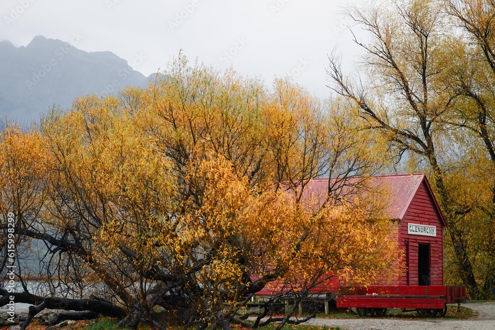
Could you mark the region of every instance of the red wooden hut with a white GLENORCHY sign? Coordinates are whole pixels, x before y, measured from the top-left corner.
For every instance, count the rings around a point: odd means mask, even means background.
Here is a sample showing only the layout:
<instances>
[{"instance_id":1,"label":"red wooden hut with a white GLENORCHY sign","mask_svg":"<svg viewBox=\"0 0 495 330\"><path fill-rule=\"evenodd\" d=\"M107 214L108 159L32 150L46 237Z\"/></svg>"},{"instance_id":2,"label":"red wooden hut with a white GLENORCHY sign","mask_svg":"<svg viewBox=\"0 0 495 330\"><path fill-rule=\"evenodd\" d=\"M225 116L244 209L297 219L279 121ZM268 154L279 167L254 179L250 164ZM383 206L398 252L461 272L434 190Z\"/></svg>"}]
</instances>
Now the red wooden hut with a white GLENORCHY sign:
<instances>
[{"instance_id":1,"label":"red wooden hut with a white GLENORCHY sign","mask_svg":"<svg viewBox=\"0 0 495 330\"><path fill-rule=\"evenodd\" d=\"M305 198L324 199L329 180L312 180ZM403 251L401 278L387 279L396 285L443 285L442 211L424 174L390 175L371 178L371 187L380 187L386 201L385 214L398 227L399 248ZM398 273L398 272L397 272ZM392 280L392 281L391 281Z\"/></svg>"}]
</instances>

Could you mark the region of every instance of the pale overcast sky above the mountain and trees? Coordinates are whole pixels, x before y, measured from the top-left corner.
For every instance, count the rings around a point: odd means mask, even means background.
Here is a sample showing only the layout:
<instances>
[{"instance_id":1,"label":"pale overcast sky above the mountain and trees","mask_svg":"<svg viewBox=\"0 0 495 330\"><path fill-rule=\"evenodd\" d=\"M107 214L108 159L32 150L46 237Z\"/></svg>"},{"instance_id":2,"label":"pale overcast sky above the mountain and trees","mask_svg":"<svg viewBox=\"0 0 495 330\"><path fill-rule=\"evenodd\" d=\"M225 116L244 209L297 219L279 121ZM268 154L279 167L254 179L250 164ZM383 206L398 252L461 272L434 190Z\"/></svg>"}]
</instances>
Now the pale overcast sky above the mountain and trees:
<instances>
[{"instance_id":1,"label":"pale overcast sky above the mountain and trees","mask_svg":"<svg viewBox=\"0 0 495 330\"><path fill-rule=\"evenodd\" d=\"M233 66L271 85L291 75L327 97L327 54L336 45L348 65L359 50L339 15L347 0L1 0L0 40L33 37L108 50L145 75L162 71L180 49L220 69ZM354 1L355 2L355 1ZM358 1L359 2L359 1ZM354 28L356 30L356 28ZM76 39L74 39L76 40Z\"/></svg>"}]
</instances>

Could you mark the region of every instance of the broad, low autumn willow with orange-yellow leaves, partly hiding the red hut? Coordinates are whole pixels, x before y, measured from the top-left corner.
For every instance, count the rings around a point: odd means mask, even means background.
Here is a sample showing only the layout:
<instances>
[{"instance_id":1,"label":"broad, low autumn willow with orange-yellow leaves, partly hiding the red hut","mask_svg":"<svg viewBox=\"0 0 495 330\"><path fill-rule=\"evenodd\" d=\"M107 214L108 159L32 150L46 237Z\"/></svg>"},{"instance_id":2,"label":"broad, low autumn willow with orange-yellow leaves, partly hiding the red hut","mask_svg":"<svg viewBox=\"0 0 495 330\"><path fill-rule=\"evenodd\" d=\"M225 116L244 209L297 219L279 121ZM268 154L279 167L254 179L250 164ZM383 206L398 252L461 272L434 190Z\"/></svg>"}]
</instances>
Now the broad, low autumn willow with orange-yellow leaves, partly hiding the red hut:
<instances>
[{"instance_id":1,"label":"broad, low autumn willow with orange-yellow leaves, partly hiding the red hut","mask_svg":"<svg viewBox=\"0 0 495 330\"><path fill-rule=\"evenodd\" d=\"M377 141L345 110L287 80L270 91L180 56L146 90L89 95L32 130L5 130L0 212L14 213L16 244L27 247L17 260L36 242L48 248L35 275L50 291L1 289L2 304L34 304L23 329L45 309L160 329L307 320L289 319L294 305L261 321L283 294L300 301L329 274L372 281L398 253L380 205L341 193L379 164ZM304 187L324 175L339 180L308 207ZM265 314L238 317L274 281Z\"/></svg>"}]
</instances>

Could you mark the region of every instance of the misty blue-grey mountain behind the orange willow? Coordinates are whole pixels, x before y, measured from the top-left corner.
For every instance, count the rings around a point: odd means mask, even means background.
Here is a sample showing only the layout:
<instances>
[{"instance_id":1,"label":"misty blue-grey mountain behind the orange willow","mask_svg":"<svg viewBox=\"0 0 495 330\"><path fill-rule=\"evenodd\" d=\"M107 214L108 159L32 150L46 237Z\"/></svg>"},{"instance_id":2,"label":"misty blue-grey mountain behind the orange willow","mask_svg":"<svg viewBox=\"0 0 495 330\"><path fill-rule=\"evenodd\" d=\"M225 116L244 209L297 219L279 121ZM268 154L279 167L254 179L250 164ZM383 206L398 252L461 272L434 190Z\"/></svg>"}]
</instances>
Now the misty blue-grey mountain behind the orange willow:
<instances>
[{"instance_id":1,"label":"misty blue-grey mountain behind the orange willow","mask_svg":"<svg viewBox=\"0 0 495 330\"><path fill-rule=\"evenodd\" d=\"M126 86L146 87L154 79L112 52L77 49L73 37L66 43L38 36L26 47L0 42L1 122L39 121L54 105L70 108L77 96L115 94ZM133 66L141 60L136 58Z\"/></svg>"}]
</instances>

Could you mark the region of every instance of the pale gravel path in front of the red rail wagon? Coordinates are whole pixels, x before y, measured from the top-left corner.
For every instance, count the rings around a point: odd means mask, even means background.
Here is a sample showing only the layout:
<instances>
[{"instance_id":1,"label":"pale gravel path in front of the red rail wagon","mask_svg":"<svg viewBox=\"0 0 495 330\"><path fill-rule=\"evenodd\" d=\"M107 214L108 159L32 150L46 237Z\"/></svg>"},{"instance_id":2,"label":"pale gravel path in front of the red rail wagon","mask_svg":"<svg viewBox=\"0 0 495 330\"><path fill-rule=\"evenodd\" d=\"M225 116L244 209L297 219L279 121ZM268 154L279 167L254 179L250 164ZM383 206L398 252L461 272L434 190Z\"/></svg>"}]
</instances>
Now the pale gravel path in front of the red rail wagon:
<instances>
[{"instance_id":1,"label":"pale gravel path in front of the red rail wagon","mask_svg":"<svg viewBox=\"0 0 495 330\"><path fill-rule=\"evenodd\" d=\"M308 322L314 326L340 327L343 330L494 330L495 302L466 303L465 306L480 312L480 315L468 320L399 320L399 319L313 319Z\"/></svg>"}]
</instances>

